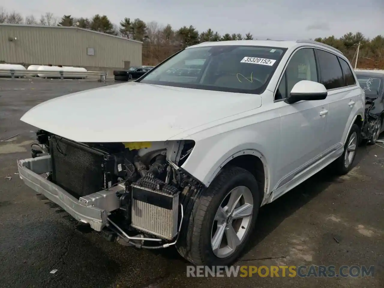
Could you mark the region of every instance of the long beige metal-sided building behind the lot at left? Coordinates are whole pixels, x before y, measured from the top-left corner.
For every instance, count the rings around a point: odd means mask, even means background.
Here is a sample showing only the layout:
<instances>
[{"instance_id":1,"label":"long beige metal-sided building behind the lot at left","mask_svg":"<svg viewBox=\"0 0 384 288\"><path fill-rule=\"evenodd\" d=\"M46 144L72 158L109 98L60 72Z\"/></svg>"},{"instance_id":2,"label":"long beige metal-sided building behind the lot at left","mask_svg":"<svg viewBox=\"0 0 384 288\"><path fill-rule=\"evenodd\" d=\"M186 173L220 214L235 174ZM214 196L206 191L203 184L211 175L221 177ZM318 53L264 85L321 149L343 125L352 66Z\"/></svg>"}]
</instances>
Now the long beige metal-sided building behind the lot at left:
<instances>
[{"instance_id":1,"label":"long beige metal-sided building behind the lot at left","mask_svg":"<svg viewBox=\"0 0 384 288\"><path fill-rule=\"evenodd\" d=\"M110 70L141 65L141 57L140 41L77 27L0 24L0 61L5 63Z\"/></svg>"}]
</instances>

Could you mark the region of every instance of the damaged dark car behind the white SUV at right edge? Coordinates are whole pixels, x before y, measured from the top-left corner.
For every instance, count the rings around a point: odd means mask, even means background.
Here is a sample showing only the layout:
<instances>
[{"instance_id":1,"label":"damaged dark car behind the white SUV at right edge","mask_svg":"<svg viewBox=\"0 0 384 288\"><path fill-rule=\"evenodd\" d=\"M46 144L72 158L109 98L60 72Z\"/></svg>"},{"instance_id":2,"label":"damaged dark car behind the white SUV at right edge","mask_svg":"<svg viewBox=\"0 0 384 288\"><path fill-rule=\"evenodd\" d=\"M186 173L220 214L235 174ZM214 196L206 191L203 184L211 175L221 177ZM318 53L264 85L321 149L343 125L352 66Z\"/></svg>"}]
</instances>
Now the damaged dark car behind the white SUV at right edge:
<instances>
[{"instance_id":1,"label":"damaged dark car behind the white SUV at right edge","mask_svg":"<svg viewBox=\"0 0 384 288\"><path fill-rule=\"evenodd\" d=\"M374 144L384 131L384 71L355 71L366 98L366 123L364 138ZM365 128L365 130L364 130Z\"/></svg>"}]
</instances>

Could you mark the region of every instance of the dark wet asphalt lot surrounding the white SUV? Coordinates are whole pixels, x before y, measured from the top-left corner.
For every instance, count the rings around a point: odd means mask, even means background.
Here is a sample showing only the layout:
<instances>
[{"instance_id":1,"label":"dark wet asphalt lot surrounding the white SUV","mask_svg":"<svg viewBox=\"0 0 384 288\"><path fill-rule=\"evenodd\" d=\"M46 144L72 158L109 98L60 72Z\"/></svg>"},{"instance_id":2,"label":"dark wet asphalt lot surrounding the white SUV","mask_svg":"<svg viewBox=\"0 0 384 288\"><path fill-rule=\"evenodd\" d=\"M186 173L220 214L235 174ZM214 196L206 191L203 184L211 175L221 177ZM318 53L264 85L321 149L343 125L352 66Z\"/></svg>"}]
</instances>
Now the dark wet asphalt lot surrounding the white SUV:
<instances>
[{"instance_id":1,"label":"dark wet asphalt lot surrounding the white SUV","mask_svg":"<svg viewBox=\"0 0 384 288\"><path fill-rule=\"evenodd\" d=\"M0 79L0 139L19 134L0 142L0 287L384 287L384 144L361 147L348 175L320 172L263 207L236 263L374 265L373 278L187 278L188 263L173 248L137 250L74 229L14 174L35 140L35 128L19 119L45 100L109 84Z\"/></svg>"}]
</instances>

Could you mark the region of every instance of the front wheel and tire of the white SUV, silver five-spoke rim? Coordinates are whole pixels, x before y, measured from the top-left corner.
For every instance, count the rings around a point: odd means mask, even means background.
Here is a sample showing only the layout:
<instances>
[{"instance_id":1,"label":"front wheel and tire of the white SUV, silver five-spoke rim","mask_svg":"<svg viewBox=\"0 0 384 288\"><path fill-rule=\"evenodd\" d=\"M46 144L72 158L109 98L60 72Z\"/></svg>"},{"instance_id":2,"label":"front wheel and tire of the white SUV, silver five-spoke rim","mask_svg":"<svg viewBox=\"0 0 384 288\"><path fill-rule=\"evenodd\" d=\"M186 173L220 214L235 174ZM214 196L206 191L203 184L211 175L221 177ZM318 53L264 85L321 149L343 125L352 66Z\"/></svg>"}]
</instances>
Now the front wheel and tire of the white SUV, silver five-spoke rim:
<instances>
[{"instance_id":1,"label":"front wheel and tire of the white SUV, silver five-spoke rim","mask_svg":"<svg viewBox=\"0 0 384 288\"><path fill-rule=\"evenodd\" d=\"M195 201L178 252L194 265L232 264L247 244L259 207L255 177L239 167L223 169Z\"/></svg>"}]
</instances>

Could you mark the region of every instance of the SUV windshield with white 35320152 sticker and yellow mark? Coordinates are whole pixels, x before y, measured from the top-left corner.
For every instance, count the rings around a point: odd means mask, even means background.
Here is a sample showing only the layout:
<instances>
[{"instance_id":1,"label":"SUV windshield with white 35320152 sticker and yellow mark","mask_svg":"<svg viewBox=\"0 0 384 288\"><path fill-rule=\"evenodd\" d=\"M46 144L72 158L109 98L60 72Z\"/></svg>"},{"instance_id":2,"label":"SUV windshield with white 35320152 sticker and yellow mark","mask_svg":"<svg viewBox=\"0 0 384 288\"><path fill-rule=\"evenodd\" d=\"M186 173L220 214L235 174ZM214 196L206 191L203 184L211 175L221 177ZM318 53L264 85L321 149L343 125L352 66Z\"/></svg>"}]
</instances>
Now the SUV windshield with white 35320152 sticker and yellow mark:
<instances>
[{"instance_id":1,"label":"SUV windshield with white 35320152 sticker and yellow mark","mask_svg":"<svg viewBox=\"0 0 384 288\"><path fill-rule=\"evenodd\" d=\"M138 82L259 94L285 51L285 48L238 45L187 48Z\"/></svg>"}]
</instances>

